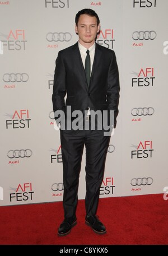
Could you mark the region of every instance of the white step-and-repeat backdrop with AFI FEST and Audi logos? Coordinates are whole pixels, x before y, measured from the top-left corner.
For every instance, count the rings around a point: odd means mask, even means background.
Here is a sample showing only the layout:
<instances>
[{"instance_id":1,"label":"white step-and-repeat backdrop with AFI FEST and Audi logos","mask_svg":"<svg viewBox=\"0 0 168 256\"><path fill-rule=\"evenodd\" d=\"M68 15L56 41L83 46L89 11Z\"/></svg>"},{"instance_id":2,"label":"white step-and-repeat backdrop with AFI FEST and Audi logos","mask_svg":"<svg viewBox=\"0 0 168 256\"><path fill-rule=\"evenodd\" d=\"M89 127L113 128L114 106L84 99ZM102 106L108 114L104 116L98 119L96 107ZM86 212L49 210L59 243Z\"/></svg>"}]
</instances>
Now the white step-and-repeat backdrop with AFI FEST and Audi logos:
<instances>
[{"instance_id":1,"label":"white step-and-repeat backdrop with AFI FEST and Audi logos","mask_svg":"<svg viewBox=\"0 0 168 256\"><path fill-rule=\"evenodd\" d=\"M115 51L120 73L100 198L164 193L168 186L168 1L0 1L1 206L63 199L53 77L59 50L78 40L74 17L83 8L99 15L96 41ZM85 191L84 151L79 199Z\"/></svg>"}]
</instances>

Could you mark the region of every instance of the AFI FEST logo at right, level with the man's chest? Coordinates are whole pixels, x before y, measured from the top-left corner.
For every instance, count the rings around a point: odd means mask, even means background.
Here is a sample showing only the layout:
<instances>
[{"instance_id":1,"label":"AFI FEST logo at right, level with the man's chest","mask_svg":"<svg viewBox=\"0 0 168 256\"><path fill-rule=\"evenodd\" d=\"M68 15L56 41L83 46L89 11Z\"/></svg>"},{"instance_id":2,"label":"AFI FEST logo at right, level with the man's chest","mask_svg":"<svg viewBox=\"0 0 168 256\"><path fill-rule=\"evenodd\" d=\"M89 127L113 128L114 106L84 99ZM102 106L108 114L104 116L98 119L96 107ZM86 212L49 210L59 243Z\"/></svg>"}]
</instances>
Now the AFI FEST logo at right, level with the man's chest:
<instances>
[{"instance_id":1,"label":"AFI FEST logo at right, level with the man's chest","mask_svg":"<svg viewBox=\"0 0 168 256\"><path fill-rule=\"evenodd\" d=\"M154 77L154 68L141 68L141 70L137 72L133 72L137 77L132 78L132 87L148 87L153 86Z\"/></svg>"}]
</instances>

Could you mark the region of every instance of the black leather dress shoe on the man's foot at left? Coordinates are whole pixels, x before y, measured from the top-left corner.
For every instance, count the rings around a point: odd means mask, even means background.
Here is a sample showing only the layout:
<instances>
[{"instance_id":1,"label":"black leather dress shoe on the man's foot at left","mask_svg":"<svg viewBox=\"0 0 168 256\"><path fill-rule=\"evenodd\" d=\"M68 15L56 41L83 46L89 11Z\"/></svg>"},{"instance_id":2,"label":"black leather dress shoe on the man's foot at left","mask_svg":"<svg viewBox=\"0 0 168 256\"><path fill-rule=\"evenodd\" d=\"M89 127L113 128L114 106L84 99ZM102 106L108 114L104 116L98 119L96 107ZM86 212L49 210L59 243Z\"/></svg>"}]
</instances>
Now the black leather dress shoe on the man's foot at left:
<instances>
[{"instance_id":1,"label":"black leather dress shoe on the man's foot at left","mask_svg":"<svg viewBox=\"0 0 168 256\"><path fill-rule=\"evenodd\" d=\"M64 221L59 226L58 235L63 236L63 235L69 234L72 227L74 227L76 224L77 224L76 217L64 218Z\"/></svg>"}]
</instances>

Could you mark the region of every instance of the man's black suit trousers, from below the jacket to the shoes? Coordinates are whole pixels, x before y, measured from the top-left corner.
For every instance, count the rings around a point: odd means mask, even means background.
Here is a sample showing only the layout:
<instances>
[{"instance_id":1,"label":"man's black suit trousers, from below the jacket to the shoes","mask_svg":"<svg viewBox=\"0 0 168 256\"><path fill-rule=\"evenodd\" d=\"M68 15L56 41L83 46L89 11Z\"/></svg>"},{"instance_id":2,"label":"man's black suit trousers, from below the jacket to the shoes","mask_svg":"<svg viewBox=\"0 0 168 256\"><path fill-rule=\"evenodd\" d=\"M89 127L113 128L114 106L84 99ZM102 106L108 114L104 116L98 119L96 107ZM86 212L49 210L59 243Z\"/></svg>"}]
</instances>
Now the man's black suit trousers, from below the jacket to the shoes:
<instances>
[{"instance_id":1,"label":"man's black suit trousers, from below the jacket to the shoes","mask_svg":"<svg viewBox=\"0 0 168 256\"><path fill-rule=\"evenodd\" d=\"M99 189L104 176L105 159L110 136L91 129L75 134L60 130L63 159L63 208L64 217L76 216L78 184L81 171L83 148L86 149L86 215L96 215Z\"/></svg>"}]
</instances>

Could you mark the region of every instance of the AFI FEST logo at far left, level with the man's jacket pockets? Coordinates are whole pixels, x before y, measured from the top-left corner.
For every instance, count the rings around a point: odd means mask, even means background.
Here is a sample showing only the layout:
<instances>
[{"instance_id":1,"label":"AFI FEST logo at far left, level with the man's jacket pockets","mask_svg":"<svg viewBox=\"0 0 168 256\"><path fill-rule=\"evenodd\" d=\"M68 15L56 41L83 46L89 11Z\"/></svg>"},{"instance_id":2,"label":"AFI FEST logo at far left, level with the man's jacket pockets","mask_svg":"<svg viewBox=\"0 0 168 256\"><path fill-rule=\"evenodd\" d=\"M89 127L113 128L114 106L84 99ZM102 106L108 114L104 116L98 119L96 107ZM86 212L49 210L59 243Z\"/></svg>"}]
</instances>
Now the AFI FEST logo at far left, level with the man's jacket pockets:
<instances>
[{"instance_id":1,"label":"AFI FEST logo at far left, level with the man's jacket pockets","mask_svg":"<svg viewBox=\"0 0 168 256\"><path fill-rule=\"evenodd\" d=\"M9 127L12 127L13 129L30 128L30 120L28 109L15 110L12 119L6 120L6 129Z\"/></svg>"}]
</instances>

